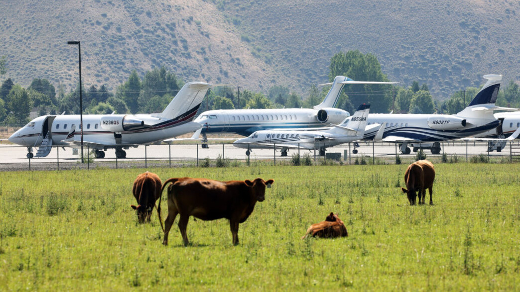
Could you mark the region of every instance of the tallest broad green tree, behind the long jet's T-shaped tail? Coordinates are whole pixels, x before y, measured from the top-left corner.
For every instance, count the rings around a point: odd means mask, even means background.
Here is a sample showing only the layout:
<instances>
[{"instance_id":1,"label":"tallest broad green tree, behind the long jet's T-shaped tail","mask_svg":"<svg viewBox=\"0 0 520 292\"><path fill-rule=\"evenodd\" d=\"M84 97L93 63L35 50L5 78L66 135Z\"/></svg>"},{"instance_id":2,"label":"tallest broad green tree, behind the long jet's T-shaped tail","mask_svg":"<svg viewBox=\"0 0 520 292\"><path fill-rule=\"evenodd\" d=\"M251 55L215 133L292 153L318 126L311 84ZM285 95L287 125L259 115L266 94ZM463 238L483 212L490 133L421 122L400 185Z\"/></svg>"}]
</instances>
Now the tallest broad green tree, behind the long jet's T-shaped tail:
<instances>
[{"instance_id":1,"label":"tallest broad green tree, behind the long jet's T-shaped tail","mask_svg":"<svg viewBox=\"0 0 520 292\"><path fill-rule=\"evenodd\" d=\"M356 81L383 81L388 78L381 71L381 64L372 54L363 55L360 51L339 52L331 58L329 79L335 76L348 76ZM361 103L371 104L370 112L387 112L393 103L391 95L385 94L391 85L346 85L345 92L355 107Z\"/></svg>"}]
</instances>

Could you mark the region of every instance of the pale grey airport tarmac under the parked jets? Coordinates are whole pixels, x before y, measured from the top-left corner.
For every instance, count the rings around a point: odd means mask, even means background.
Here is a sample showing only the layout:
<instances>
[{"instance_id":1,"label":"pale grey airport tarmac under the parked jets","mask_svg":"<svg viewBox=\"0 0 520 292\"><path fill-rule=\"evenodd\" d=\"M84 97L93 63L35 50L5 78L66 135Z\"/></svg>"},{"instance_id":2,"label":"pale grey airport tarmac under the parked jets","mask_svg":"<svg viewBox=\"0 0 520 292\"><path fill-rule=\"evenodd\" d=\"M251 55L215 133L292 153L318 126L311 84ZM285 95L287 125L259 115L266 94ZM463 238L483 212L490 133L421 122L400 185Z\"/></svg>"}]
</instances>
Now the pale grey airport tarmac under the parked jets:
<instances>
[{"instance_id":1,"label":"pale grey airport tarmac under the parked jets","mask_svg":"<svg viewBox=\"0 0 520 292\"><path fill-rule=\"evenodd\" d=\"M396 153L398 153L401 158L415 155L413 152L408 155L400 154L396 144L393 143L378 142L374 143L373 146L372 142L360 142L359 144L360 147L357 149L357 154L352 154L354 143L350 143L350 148L348 143L329 148L327 149L327 153L341 153L341 159L346 163L348 163L349 160L351 163L354 163L355 158L360 155L366 155L369 157L374 156L375 158L384 160L392 160ZM442 144L441 147L443 147ZM466 142L444 142L443 148L444 150L441 151L441 153L446 152L448 155L457 155L459 160L464 161L466 153L468 157L485 154L492 157L502 156L505 159L509 159L509 155L519 154L518 149L520 146L518 145L518 142L515 141L511 147L511 152L510 145L508 144L502 152L489 153L486 152L487 143L485 142L469 142L467 143L467 147ZM85 153L90 150L92 149L84 147ZM215 160L220 156L237 161L245 161L248 158L245 155L245 149L236 148L232 144L210 144L208 149L202 149L201 144L152 144L146 147L140 145L137 148L130 148L125 151L127 158L116 159L115 151L113 149L108 149L105 152L105 158L95 159L93 161L93 166L114 167L115 164L118 167L130 167L132 165L132 167L146 167L150 163L159 163L161 166L164 165L167 167L172 166L172 164L179 165L187 162L196 164L197 160L200 162L206 157ZM33 152L36 153L35 148L33 148ZM81 150L78 152L81 153ZM274 160L275 156L277 161L282 159L287 160L291 159L292 155L295 153L298 153L298 150L291 149L289 150L287 157L281 157L279 151L275 152L272 149L254 149L250 155L250 160ZM305 153L308 153L312 158L318 159L318 157L315 156L318 153L315 153L315 151L300 149L300 155L305 155ZM345 153L347 154L347 157L344 156ZM430 150L425 150L425 153L430 157L441 155L434 155ZM73 150L70 147L56 147L47 157L32 158L31 160L26 157L26 154L27 147L0 144L0 170L28 170L29 167L31 167L31 169L86 168L84 165L81 165L80 154L73 154ZM29 163L31 166L29 166Z\"/></svg>"}]
</instances>

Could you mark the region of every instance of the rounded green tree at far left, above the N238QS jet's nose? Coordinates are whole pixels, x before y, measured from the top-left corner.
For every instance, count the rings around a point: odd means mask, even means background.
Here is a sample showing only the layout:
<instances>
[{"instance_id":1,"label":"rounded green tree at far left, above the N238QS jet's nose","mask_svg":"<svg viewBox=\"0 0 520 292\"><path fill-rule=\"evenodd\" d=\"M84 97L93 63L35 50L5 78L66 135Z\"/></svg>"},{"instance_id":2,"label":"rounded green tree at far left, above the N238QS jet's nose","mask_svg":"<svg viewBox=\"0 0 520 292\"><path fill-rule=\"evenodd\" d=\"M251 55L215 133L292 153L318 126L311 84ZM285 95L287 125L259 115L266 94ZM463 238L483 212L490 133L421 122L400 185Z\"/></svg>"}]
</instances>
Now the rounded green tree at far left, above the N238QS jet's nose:
<instances>
[{"instance_id":1,"label":"rounded green tree at far left, above the N238QS jet's nose","mask_svg":"<svg viewBox=\"0 0 520 292\"><path fill-rule=\"evenodd\" d=\"M7 100L6 108L9 111L7 116L9 124L26 124L29 122L33 101L27 90L17 84L9 91Z\"/></svg>"}]
</instances>

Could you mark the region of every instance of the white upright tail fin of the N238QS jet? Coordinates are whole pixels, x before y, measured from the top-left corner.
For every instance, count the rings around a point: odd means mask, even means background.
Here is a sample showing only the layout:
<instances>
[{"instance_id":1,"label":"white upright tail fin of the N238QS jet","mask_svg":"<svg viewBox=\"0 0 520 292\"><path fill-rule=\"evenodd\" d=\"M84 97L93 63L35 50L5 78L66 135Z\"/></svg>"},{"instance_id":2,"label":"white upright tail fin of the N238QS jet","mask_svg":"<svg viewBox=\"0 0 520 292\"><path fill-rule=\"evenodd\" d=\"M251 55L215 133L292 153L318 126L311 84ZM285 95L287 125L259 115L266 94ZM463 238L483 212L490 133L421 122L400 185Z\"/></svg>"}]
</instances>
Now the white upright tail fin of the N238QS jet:
<instances>
[{"instance_id":1,"label":"white upright tail fin of the N238QS jet","mask_svg":"<svg viewBox=\"0 0 520 292\"><path fill-rule=\"evenodd\" d=\"M189 116L187 121L191 121L206 95L211 84L204 82L188 82L179 90L177 95L172 99L170 104L160 114L155 117L177 118L181 116Z\"/></svg>"}]
</instances>

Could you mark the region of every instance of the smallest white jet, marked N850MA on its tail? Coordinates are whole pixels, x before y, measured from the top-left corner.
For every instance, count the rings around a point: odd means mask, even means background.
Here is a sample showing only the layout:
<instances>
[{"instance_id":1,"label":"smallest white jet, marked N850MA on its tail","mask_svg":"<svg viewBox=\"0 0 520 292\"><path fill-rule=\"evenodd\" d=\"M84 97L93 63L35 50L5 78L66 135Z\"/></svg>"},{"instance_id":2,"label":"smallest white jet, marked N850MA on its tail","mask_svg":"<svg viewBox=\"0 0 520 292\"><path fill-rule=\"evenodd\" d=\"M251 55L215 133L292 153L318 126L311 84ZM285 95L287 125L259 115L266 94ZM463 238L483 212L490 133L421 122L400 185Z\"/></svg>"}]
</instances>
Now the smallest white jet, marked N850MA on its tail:
<instances>
[{"instance_id":1,"label":"smallest white jet, marked N850MA on its tail","mask_svg":"<svg viewBox=\"0 0 520 292\"><path fill-rule=\"evenodd\" d=\"M252 149L281 149L282 155L287 156L290 148L320 150L320 155L328 147L357 141L363 138L370 104L361 104L352 117L346 118L341 125L332 124L332 128L321 131L309 130L260 130L255 131L247 138L238 139L233 146L245 148L249 156ZM380 125L373 125L381 128Z\"/></svg>"}]
</instances>

